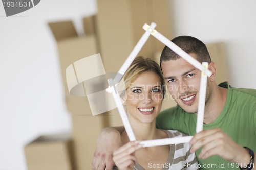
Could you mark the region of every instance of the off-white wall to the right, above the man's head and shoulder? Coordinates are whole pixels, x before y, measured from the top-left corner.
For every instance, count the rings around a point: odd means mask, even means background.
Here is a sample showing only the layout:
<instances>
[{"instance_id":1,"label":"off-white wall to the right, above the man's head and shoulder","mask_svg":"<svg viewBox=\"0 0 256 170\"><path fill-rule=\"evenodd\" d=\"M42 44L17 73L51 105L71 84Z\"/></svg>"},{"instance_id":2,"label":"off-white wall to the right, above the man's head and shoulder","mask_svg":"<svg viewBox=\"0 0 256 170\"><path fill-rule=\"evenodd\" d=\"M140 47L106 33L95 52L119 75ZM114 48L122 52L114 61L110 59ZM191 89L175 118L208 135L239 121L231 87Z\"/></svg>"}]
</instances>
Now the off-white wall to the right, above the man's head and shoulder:
<instances>
[{"instance_id":1,"label":"off-white wall to the right, above the man's head and shoulder","mask_svg":"<svg viewBox=\"0 0 256 170\"><path fill-rule=\"evenodd\" d=\"M205 43L223 41L230 84L256 88L255 1L171 0L171 5L174 36L190 35Z\"/></svg>"}]
</instances>

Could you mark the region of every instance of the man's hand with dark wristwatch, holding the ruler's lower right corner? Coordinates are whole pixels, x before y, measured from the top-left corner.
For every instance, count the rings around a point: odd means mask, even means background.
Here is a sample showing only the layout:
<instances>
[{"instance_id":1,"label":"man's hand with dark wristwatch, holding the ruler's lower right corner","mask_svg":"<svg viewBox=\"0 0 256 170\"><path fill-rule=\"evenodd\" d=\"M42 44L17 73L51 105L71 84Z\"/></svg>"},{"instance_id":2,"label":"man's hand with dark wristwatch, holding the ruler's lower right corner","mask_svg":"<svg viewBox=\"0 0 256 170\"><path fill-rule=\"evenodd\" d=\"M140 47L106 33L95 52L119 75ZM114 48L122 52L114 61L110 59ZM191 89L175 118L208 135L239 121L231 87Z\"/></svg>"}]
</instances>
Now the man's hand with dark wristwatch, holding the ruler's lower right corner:
<instances>
[{"instance_id":1,"label":"man's hand with dark wristwatch, holding the ruler's lower right corner","mask_svg":"<svg viewBox=\"0 0 256 170\"><path fill-rule=\"evenodd\" d=\"M190 141L190 152L193 153L203 147L198 157L207 159L213 155L219 155L223 159L247 164L250 160L248 151L233 141L220 128L208 129L194 135Z\"/></svg>"}]
</instances>

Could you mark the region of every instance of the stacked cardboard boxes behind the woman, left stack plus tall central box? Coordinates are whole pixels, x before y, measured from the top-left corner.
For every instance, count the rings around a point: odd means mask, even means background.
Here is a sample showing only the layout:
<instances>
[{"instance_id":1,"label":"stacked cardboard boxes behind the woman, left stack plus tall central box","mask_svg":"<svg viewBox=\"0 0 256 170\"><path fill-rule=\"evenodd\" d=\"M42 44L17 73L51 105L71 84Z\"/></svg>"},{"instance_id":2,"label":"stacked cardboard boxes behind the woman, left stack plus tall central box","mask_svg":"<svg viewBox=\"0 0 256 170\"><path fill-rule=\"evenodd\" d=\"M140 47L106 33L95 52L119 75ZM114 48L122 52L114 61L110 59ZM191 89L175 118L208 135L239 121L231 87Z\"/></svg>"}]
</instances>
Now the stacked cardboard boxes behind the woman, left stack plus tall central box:
<instances>
[{"instance_id":1,"label":"stacked cardboard boxes behind the woman, left stack plus tall central box","mask_svg":"<svg viewBox=\"0 0 256 170\"><path fill-rule=\"evenodd\" d=\"M117 109L92 116L87 98L70 95L66 82L66 68L84 57L100 53L105 71L117 72L143 35L144 23L150 25L151 22L155 22L156 30L169 39L172 37L170 5L167 0L98 0L97 4L97 15L83 19L86 33L83 37L78 37L72 21L49 23L57 42L67 110L72 114L72 157L76 167L72 166L73 170L91 169L96 139L101 129L106 126L120 126L122 123ZM164 44L151 36L139 55L159 62L159 52L163 47ZM215 52L218 55L218 50ZM175 105L173 100L169 102L164 102L163 109ZM28 155L27 162L31 163ZM29 170L35 169L28 167Z\"/></svg>"}]
</instances>

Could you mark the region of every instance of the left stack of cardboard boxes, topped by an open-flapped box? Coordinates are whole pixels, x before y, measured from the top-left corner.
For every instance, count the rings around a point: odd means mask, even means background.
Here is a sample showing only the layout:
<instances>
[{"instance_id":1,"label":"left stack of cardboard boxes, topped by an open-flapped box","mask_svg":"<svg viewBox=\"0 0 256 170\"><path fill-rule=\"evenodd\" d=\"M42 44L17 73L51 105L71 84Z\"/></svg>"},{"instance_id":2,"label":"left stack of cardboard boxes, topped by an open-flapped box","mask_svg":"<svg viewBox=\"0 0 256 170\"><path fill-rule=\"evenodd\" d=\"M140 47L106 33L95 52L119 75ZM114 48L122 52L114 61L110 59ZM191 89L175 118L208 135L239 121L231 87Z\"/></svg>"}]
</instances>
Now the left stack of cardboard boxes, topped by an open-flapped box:
<instances>
[{"instance_id":1,"label":"left stack of cardboard boxes, topped by an open-flapped box","mask_svg":"<svg viewBox=\"0 0 256 170\"><path fill-rule=\"evenodd\" d=\"M86 36L82 37L77 36L71 21L49 23L57 42L67 110L72 114L72 138L77 170L91 169L97 135L104 126L108 126L108 117L92 116L87 97L72 96L67 87L66 68L75 61L99 53L92 23L93 17L83 18L83 21Z\"/></svg>"}]
</instances>

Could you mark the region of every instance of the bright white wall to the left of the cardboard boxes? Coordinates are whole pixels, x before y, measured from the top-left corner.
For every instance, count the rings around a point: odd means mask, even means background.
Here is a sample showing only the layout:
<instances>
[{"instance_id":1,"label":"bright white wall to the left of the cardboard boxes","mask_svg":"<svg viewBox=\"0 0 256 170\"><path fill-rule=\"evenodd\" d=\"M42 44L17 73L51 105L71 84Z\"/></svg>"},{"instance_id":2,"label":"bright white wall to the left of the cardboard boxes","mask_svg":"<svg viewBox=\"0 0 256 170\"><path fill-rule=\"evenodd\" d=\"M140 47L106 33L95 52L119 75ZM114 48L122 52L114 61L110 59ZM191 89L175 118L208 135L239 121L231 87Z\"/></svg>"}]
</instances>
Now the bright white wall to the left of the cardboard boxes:
<instances>
[{"instance_id":1,"label":"bright white wall to the left of the cardboard boxes","mask_svg":"<svg viewBox=\"0 0 256 170\"><path fill-rule=\"evenodd\" d=\"M55 40L48 21L96 12L95 1L41 0L6 17L0 3L0 169L27 169L24 145L41 134L71 131Z\"/></svg>"}]
</instances>

